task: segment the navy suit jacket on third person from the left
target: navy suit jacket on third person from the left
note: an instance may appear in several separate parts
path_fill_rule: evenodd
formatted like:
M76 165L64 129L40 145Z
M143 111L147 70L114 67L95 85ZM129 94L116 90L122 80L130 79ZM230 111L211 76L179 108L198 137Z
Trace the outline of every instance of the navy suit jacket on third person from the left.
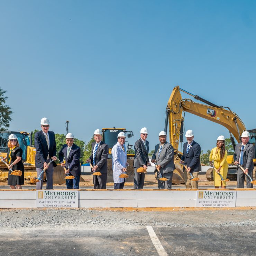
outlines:
M65 157L65 167L66 169L70 170L71 175L73 175L74 177L81 175L80 155L81 149L75 144L72 145L68 157L67 144L62 146L62 149L59 153L60 162L63 162L63 157Z

